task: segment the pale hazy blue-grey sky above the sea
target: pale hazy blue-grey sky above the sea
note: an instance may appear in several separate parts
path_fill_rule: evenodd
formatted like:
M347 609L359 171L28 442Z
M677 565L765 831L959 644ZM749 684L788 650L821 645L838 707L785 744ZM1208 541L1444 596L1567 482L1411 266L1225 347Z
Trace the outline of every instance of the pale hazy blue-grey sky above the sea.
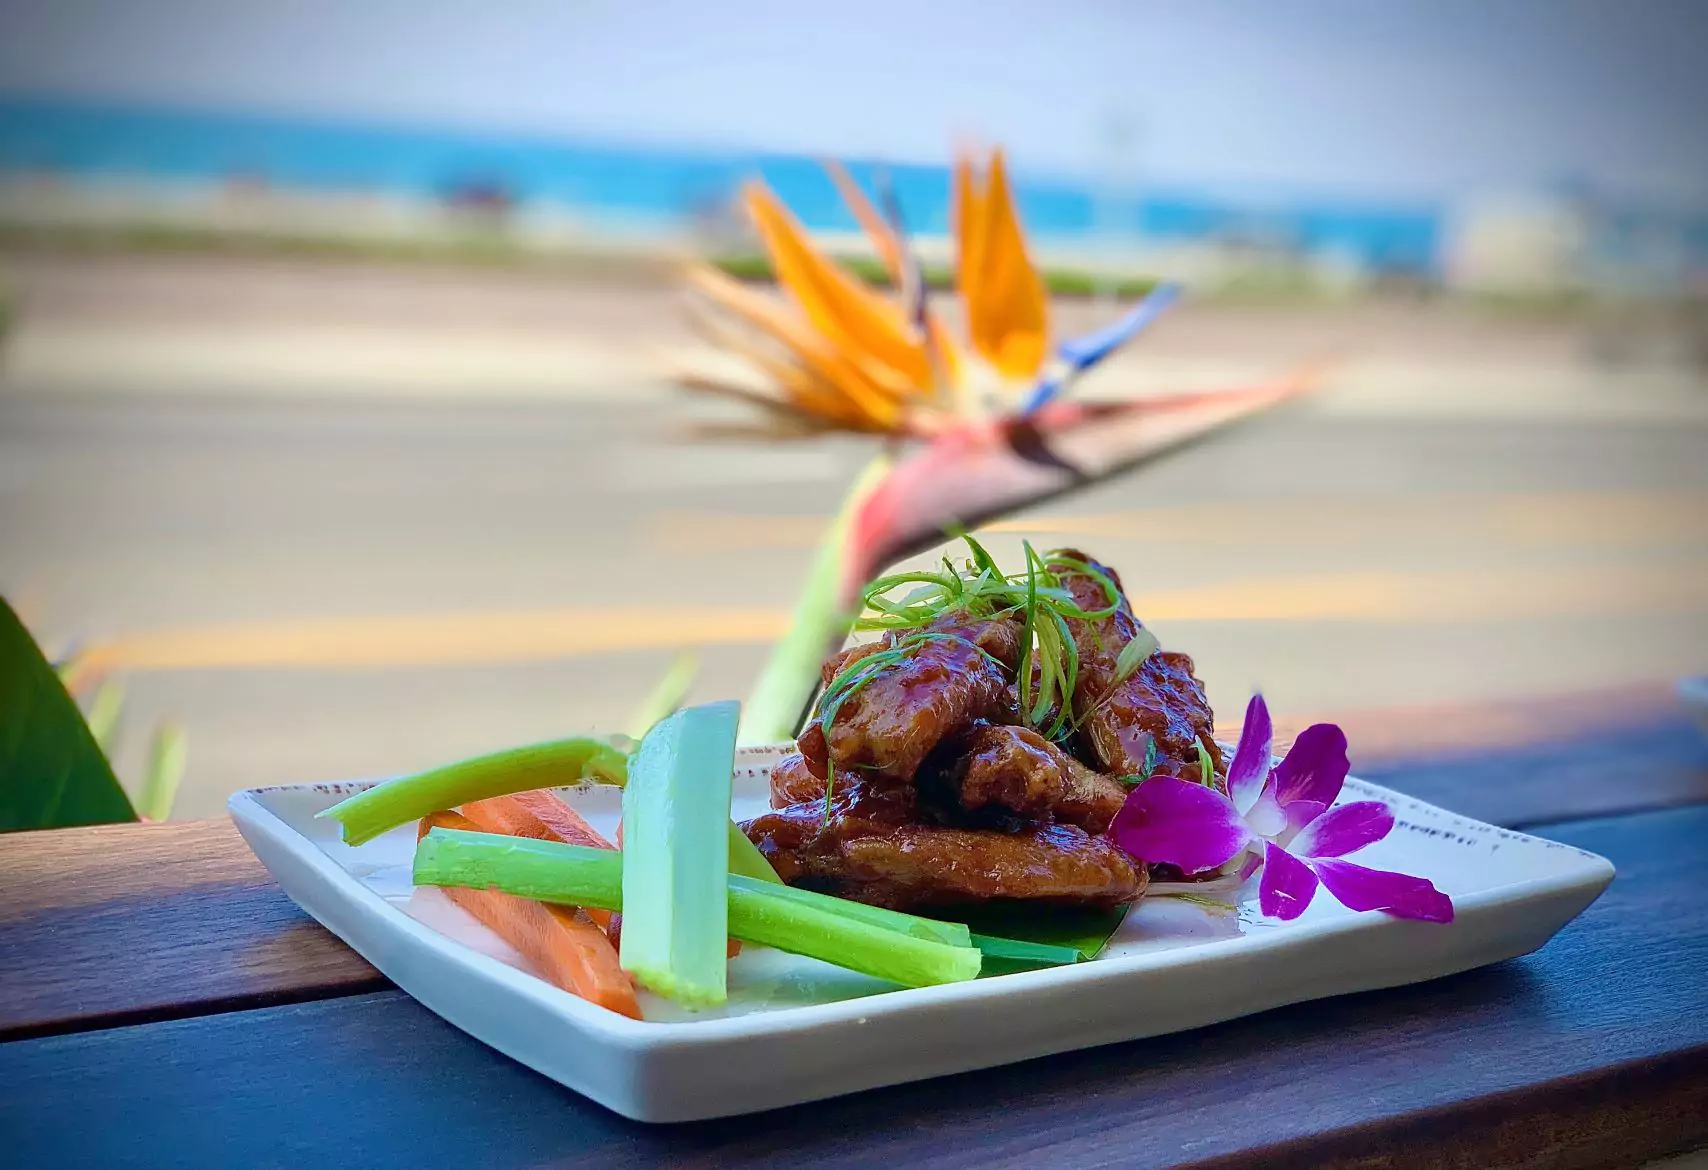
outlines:
M3 0L0 89L1240 195L1708 207L1708 0Z

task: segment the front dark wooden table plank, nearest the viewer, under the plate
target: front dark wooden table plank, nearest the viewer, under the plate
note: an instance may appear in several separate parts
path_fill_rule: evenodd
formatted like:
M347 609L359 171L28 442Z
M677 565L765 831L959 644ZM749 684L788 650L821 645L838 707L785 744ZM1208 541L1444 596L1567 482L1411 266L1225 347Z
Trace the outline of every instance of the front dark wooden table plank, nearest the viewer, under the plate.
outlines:
M1621 876L1527 958L758 1117L627 1122L386 991L0 1045L0 1131L20 1165L1373 1170L1699 1146L1708 808L1554 835Z

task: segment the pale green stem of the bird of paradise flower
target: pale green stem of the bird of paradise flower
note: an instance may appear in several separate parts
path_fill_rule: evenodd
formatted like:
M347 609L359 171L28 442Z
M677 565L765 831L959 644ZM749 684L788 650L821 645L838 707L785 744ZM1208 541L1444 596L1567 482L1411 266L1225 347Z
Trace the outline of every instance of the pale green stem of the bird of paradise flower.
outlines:
M893 463L895 459L888 453L874 456L854 480L849 494L842 497L842 507L830 521L830 531L825 533L825 540L818 547L813 570L794 603L789 632L772 647L758 682L753 683L753 693L748 695L746 717L741 721L743 745L782 743L794 738L794 722L806 709L808 699L813 697L825 654L835 647L839 639L847 637L854 620L842 598L844 557L854 529L854 516L873 488L890 473Z

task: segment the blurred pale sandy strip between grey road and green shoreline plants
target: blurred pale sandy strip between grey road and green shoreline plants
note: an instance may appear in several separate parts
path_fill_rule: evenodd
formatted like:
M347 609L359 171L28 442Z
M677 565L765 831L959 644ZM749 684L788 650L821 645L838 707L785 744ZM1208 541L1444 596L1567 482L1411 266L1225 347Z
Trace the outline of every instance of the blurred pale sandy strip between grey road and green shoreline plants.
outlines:
M0 393L632 400L728 360L670 273L196 251L0 251ZM953 319L953 295L939 306ZM1064 335L1117 299L1056 297ZM1086 396L1211 389L1332 362L1351 413L1703 417L1701 321L1660 309L1494 311L1464 299L1189 299Z

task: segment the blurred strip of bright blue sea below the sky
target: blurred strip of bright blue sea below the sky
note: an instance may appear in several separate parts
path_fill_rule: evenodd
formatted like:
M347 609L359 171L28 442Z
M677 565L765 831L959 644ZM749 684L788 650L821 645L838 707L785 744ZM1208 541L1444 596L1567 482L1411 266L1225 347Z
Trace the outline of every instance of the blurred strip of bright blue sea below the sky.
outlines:
M851 162L871 184L874 164ZM910 231L948 231L950 173L888 166ZM500 188L519 202L577 208L589 219L673 224L758 176L815 231L854 231L815 159L600 145L468 132L331 125L256 114L84 104L0 96L0 174L145 176L219 181L251 176L282 188L436 196ZM1435 208L1295 205L1249 208L1185 195L1148 195L1112 214L1083 184L1016 176L1028 232L1071 243L1102 231L1151 239L1245 237L1337 251L1392 272L1431 272L1442 244Z

